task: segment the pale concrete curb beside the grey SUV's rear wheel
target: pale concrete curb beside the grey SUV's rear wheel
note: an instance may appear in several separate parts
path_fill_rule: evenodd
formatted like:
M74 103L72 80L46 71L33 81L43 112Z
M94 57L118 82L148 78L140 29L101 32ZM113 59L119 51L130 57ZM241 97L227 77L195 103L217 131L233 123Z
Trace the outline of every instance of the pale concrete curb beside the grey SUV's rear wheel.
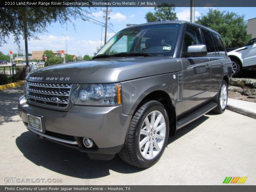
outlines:
M228 98L227 109L256 119L256 103Z

